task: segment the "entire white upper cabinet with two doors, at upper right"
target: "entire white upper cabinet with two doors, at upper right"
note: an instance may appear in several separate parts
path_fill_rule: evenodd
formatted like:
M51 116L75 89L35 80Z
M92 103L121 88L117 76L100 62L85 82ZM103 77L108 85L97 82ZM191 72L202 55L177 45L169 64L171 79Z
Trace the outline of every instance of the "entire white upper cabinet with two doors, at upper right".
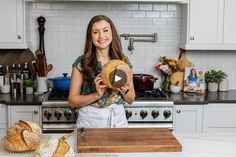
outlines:
M183 5L180 47L236 50L234 8L234 0L190 0Z

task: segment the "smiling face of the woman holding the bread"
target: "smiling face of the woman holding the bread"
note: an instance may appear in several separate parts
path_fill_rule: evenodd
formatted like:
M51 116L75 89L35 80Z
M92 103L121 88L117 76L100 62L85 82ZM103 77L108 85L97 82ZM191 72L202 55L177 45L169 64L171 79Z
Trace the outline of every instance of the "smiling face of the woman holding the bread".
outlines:
M112 30L110 24L101 20L92 26L92 42L98 49L106 49L112 41Z

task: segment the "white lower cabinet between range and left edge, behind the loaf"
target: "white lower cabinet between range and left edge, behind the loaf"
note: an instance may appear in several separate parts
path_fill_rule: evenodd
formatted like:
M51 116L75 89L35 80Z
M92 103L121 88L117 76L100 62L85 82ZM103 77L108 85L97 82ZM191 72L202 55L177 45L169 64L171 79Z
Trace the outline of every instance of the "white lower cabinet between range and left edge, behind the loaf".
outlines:
M32 121L41 126L41 107L40 106L8 106L8 127L11 127L19 120Z

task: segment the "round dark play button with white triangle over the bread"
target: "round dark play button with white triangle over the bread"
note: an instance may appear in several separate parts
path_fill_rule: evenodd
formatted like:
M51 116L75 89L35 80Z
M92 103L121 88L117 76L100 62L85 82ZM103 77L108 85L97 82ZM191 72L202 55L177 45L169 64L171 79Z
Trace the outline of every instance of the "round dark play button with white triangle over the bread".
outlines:
M115 69L110 73L110 84L115 88L124 86L127 82L127 75L123 70Z

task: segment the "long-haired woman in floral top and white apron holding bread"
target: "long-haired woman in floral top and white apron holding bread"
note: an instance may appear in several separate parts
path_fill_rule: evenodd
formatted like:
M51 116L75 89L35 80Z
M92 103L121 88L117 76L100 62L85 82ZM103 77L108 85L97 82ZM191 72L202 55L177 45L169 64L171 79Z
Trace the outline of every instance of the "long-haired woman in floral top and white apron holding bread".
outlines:
M116 92L104 86L100 71L112 59L123 60L120 39L113 22L104 15L93 17L87 27L84 54L73 63L69 104L78 107L77 128L127 127L124 104L135 98L133 79ZM130 73L132 77L132 72Z

